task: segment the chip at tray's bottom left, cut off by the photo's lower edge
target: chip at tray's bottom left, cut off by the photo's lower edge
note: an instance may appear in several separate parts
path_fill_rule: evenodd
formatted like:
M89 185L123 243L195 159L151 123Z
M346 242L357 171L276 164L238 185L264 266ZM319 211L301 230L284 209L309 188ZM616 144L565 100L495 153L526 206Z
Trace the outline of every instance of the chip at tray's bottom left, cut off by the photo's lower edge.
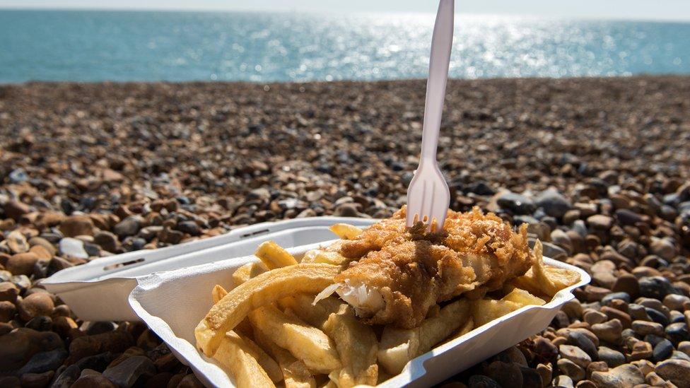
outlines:
M253 353L244 339L230 331L222 337L214 358L230 371L239 388L275 387Z

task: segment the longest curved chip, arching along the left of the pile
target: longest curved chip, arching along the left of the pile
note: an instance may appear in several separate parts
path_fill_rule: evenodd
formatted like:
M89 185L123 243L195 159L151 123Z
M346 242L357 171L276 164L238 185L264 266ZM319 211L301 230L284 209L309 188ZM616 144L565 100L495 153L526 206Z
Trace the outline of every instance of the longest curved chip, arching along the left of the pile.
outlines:
M296 293L319 293L333 283L339 266L297 264L274 269L230 290L194 329L197 347L213 355L223 336L242 322L250 311Z

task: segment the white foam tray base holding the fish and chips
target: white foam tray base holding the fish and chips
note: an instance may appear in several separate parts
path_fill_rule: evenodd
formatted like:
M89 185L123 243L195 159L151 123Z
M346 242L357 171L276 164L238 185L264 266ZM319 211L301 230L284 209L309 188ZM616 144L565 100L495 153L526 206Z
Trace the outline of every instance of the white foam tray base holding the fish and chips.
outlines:
M308 249L322 244L288 249L301 258ZM220 284L233 288L231 274L242 264L257 261L254 256L241 257L153 274L139 279L129 295L134 312L168 344L179 360L189 365L207 387L234 387L226 372L212 358L194 346L194 328L212 305L211 290ZM571 269L580 274L580 282L561 290L543 306L525 306L453 341L420 355L401 374L380 384L392 388L404 385L428 387L515 345L549 325L561 305L575 298L573 289L590 282L590 276L575 266L545 258L546 264Z

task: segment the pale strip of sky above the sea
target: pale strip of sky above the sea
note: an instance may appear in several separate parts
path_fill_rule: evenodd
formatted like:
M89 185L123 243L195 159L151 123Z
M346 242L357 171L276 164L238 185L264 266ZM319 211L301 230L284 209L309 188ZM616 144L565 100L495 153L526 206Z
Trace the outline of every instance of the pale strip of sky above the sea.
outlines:
M0 8L435 12L435 0L0 0ZM690 21L690 0L457 0L457 13Z

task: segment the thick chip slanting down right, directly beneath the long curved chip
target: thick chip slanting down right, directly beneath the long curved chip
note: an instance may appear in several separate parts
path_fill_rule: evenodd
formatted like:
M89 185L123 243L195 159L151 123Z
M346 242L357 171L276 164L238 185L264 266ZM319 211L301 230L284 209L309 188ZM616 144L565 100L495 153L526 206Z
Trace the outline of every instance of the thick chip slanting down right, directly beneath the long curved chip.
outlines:
M314 372L329 373L342 368L338 352L328 336L315 327L290 317L274 306L264 306L249 315L257 331L270 336Z

